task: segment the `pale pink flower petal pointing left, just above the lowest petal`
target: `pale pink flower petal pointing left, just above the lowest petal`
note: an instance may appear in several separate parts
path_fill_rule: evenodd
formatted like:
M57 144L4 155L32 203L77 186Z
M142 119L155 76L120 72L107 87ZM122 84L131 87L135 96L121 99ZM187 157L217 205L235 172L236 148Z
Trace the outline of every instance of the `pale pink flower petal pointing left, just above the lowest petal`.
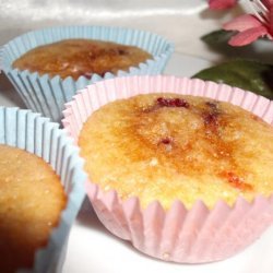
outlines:
M262 23L256 16L250 14L245 14L232 20L228 23L225 23L223 28L225 31L245 32L249 28L258 27L261 25Z

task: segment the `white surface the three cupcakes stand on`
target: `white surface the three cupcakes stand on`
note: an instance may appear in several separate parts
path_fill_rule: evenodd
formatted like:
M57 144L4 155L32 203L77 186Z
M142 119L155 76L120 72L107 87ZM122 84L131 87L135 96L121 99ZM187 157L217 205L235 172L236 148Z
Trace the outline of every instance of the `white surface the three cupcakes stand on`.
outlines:
M199 58L175 54L166 73L191 76L210 64ZM2 75L0 84L0 105L22 105ZM130 242L109 234L86 200L71 230L63 273L272 273L272 257L273 227L251 247L226 261L201 265L157 261L133 249Z

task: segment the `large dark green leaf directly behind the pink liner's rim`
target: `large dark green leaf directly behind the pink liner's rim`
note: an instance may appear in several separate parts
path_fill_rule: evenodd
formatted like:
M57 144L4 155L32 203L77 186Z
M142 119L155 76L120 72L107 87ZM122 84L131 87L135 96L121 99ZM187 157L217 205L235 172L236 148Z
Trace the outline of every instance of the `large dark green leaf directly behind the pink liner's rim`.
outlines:
M226 83L273 99L273 66L251 60L233 60L200 71L192 78Z

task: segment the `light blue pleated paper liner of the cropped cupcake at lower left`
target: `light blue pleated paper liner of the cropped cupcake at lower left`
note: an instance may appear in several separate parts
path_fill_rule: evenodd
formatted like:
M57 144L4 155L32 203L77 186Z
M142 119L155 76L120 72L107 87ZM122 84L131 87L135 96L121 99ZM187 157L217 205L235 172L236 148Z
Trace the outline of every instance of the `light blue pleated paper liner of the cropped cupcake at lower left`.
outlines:
M20 273L61 272L70 228L85 195L86 174L83 171L83 161L79 157L79 149L72 143L72 139L59 129L58 123L49 122L40 114L0 107L0 144L23 149L43 157L60 176L68 195L67 207L47 247L36 251L32 270L19 270Z

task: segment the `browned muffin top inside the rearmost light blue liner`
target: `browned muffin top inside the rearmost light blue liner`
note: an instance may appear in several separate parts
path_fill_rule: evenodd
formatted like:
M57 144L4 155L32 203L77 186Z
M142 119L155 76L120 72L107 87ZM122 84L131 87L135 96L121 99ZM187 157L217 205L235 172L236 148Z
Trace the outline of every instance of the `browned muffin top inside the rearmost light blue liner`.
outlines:
M91 79L94 73L104 76L106 72L127 71L147 59L153 59L152 55L134 46L92 39L64 39L27 51L12 67L40 75L72 76L78 80L81 75Z

